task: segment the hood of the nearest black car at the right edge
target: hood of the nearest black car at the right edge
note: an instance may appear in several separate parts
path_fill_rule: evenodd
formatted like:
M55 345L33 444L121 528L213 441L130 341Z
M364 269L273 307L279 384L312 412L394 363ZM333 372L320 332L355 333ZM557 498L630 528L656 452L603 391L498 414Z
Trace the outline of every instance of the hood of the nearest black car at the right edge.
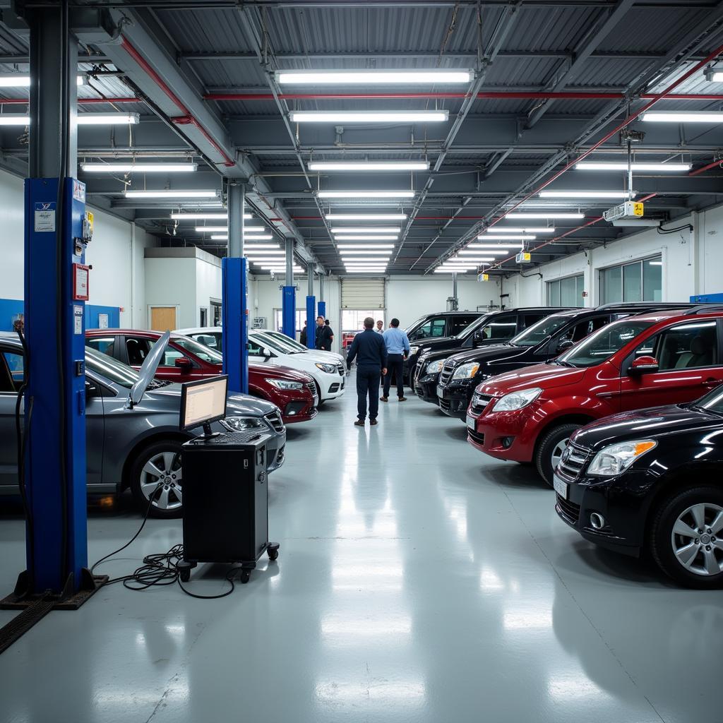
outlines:
M612 414L579 429L573 439L583 447L595 449L615 442L656 439L676 432L698 432L710 427L723 430L721 416L685 404L675 404Z

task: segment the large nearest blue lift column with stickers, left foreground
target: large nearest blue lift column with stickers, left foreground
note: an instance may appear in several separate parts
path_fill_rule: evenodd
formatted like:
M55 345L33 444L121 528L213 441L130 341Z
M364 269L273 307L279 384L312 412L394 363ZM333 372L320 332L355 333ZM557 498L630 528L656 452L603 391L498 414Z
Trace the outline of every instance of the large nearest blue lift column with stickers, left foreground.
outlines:
M29 12L30 178L25 180L27 570L17 594L92 589L87 571L85 184L77 168L77 40L68 10ZM80 278L81 290L74 284Z

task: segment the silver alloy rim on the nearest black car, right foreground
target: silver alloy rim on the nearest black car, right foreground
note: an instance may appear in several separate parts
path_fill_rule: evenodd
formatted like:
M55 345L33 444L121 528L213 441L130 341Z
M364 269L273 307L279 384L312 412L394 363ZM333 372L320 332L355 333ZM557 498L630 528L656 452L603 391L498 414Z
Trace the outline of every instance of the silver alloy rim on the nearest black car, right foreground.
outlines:
M699 502L683 510L670 535L675 559L701 576L723 572L723 508Z

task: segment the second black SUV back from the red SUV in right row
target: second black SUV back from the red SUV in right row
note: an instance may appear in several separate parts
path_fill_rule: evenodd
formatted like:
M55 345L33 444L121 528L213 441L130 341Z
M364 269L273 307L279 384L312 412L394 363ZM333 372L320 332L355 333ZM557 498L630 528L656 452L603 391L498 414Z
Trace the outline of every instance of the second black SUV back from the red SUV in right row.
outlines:
M450 354L462 349L505 343L523 329L536 324L539 320L568 307L522 307L520 309L502 309L486 312L474 324L470 324L461 334L453 337L435 339L419 345L412 345L409 354L410 369L414 369L410 385L424 401L437 403L437 377L441 364L433 364L434 373L427 371L430 363L446 359ZM416 350L416 354L414 353ZM414 364L414 365L413 365ZM432 377L434 377L432 379Z

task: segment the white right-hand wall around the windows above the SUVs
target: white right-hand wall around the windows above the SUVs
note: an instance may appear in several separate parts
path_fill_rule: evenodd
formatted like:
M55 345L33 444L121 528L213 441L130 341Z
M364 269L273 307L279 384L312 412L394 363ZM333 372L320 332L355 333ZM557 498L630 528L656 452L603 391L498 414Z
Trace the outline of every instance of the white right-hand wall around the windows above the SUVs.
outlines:
M655 228L587 252L572 254L502 282L508 306L547 303L547 282L583 273L585 306L601 302L599 272L603 268L661 254L662 300L689 301L698 294L723 293L723 206L693 213L665 226L693 225L693 231L659 234ZM542 278L541 278L542 277Z

